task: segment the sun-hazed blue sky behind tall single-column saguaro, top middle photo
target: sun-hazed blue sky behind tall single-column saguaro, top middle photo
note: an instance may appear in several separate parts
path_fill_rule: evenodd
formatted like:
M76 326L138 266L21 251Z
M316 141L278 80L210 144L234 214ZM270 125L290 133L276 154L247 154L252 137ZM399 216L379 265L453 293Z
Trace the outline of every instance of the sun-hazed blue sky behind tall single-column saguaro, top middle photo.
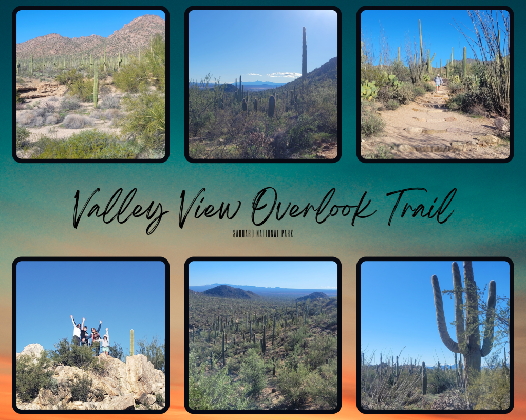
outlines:
M221 82L289 82L301 76L302 28L307 71L338 55L332 10L193 10L188 15L188 76ZM211 81L214 81L214 78Z

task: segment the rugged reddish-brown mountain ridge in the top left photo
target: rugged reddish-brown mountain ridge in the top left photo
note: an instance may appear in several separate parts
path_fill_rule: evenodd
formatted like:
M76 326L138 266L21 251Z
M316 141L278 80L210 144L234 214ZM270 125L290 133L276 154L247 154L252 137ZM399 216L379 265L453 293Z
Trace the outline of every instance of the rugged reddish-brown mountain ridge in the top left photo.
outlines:
M105 38L99 35L68 38L59 34L48 34L29 39L21 44L16 44L17 58L56 57L56 56L86 56L93 54L99 57L104 52L116 56L120 54L136 54L149 48L150 35L163 34L165 39L164 19L157 15L144 15L133 19L130 23L114 31Z

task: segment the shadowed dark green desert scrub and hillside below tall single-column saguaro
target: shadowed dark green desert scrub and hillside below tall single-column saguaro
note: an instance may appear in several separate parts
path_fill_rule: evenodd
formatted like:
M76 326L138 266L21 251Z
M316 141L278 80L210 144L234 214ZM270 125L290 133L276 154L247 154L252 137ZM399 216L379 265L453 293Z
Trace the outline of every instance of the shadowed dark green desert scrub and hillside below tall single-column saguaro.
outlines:
M188 154L193 159L313 158L338 137L338 57L284 86L227 90L211 75L189 81Z

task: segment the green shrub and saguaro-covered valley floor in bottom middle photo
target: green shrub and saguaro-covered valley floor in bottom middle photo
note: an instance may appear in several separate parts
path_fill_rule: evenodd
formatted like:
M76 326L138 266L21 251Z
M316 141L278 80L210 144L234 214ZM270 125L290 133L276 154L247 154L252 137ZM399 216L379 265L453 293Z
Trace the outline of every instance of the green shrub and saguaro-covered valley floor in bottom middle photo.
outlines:
M191 409L337 407L337 299L188 300Z

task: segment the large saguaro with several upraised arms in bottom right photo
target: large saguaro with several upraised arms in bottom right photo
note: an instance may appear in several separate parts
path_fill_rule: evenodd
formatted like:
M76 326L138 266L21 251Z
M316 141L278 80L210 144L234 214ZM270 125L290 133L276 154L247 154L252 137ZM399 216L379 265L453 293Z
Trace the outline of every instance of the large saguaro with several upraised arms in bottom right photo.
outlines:
M437 325L440 339L446 347L453 353L464 355L464 379L468 384L468 375L480 373L480 361L491 352L493 346L493 327L495 299L497 297L497 286L495 280L491 280L488 289L488 311L484 325L484 339L482 348L480 347L479 331L479 303L477 295L477 283L473 279L473 267L471 261L464 261L464 285L462 288L462 277L460 276L459 266L453 262L451 266L453 272L453 291L455 295L455 326L457 342L449 337L446 319L444 318L444 308L442 295L437 276L431 277L433 285L434 306L437 311ZM466 305L464 306L462 292L466 293ZM464 329L464 311L466 308L466 326Z

